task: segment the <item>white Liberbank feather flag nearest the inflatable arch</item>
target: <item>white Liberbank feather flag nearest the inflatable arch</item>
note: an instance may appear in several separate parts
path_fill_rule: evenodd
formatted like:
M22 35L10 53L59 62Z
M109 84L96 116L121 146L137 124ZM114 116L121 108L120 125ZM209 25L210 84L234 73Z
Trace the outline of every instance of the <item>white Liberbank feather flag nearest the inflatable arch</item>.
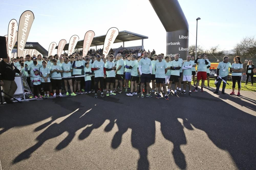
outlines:
M110 46L114 43L115 38L118 36L119 30L115 27L110 28L106 34L106 38L103 45L103 54L106 56L109 53Z

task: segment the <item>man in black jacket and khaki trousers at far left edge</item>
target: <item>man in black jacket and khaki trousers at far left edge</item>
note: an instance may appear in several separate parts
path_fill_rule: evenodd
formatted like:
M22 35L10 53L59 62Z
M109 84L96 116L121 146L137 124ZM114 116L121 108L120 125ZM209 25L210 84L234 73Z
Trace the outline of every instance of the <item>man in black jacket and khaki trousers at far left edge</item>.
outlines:
M22 73L14 66L12 62L10 62L10 58L4 58L0 62L0 84L3 86L4 100L6 103L13 103L10 98L13 96L17 89L17 84L15 83L15 73ZM8 96L9 95L9 96ZM10 97L11 96L11 97Z

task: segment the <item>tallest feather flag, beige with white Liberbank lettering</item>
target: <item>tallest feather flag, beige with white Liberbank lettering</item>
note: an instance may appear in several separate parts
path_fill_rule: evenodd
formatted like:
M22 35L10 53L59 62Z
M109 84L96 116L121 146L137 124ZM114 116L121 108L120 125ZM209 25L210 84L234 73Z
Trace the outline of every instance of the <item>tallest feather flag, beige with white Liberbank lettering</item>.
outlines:
M18 56L21 56L23 53L23 49L27 42L28 34L34 19L35 17L33 12L29 10L23 12L20 16L18 27Z

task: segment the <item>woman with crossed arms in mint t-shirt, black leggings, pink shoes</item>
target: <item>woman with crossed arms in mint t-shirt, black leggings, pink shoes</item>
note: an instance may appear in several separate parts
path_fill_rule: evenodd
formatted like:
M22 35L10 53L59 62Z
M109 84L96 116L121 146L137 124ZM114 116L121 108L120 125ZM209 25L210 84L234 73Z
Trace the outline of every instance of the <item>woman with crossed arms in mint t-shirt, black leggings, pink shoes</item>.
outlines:
M238 85L237 96L240 96L243 64L241 63L239 56L236 56L234 58L234 63L231 66L231 71L232 71L231 78L232 78L233 85L232 85L232 92L230 93L230 95L235 94L235 88L236 88L236 82L237 82L237 85Z

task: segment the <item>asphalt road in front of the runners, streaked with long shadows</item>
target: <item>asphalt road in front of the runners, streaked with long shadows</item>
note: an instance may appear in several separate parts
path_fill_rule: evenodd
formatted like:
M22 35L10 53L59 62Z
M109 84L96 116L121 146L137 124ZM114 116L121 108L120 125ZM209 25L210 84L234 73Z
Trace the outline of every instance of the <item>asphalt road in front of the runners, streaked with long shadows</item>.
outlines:
M256 93L212 91L0 106L2 168L256 169Z

